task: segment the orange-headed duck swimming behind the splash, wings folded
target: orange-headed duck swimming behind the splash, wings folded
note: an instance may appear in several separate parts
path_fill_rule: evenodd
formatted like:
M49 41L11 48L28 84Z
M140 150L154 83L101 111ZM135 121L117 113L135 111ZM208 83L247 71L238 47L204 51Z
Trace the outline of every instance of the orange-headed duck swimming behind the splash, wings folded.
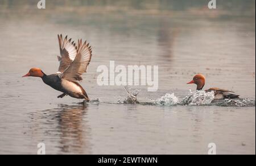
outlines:
M203 74L196 74L193 80L187 84L196 84L196 90L202 90L205 84L205 77ZM239 95L233 94L234 92L230 90L220 89L220 88L210 88L205 90L205 92L214 92L214 99L225 99L225 98L238 98Z

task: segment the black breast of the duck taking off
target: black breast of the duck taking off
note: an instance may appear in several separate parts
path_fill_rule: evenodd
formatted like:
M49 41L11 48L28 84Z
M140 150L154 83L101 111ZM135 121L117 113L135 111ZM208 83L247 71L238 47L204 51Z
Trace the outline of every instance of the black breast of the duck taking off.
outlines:
M53 89L59 90L60 92L64 92L63 87L61 86L61 80L57 74L44 75L42 80L45 84L51 86Z

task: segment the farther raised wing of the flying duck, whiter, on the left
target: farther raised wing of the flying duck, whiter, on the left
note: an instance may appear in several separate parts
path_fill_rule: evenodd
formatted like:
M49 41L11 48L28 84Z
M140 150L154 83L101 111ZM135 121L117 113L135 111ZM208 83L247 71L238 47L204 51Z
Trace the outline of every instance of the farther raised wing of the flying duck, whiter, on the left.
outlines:
M69 67L73 60L75 60L77 55L77 48L74 42L71 42L71 39L68 40L66 36L63 40L62 35L58 35L59 45L60 45L60 56L58 60L60 62L59 72L63 73L65 69Z

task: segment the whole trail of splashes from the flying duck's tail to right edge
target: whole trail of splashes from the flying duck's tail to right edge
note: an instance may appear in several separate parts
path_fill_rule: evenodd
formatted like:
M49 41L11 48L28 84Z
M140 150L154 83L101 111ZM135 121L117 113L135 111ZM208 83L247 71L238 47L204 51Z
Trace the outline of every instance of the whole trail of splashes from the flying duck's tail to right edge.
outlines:
M239 99L221 99L214 100L214 92L205 92L204 90L196 90L195 92L189 93L186 97L179 101L179 98L175 96L174 93L166 93L164 96L158 99L148 99L150 102L138 101L137 96L139 95L140 90L131 89L125 87L127 92L127 97L123 99L119 96L118 101L114 103L130 103L130 104L140 104L140 105L162 105L162 106L174 106L174 105L207 105L207 106L230 106L230 107L250 107L255 106L255 100L248 98L239 98ZM91 102L101 102L100 99L93 100Z

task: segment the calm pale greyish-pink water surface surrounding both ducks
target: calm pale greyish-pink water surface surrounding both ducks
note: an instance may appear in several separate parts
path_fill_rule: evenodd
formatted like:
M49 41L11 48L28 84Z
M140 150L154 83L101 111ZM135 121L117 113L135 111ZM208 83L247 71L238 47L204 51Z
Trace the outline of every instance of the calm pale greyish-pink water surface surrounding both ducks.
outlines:
M255 5L254 5L255 6ZM23 6L22 6L23 7ZM24 9L23 9L24 8ZM184 11L0 8L0 153L36 154L255 154L254 14ZM82 10L83 9L83 10ZM225 10L224 10L225 11ZM225 14L225 12L224 12ZM31 67L58 68L57 34L86 39L93 58L81 85L94 101L82 104L45 85L22 78ZM98 65L159 65L159 90L139 89L138 101L205 88L230 89L254 103L236 105L123 104L122 86L98 86ZM100 99L98 101L97 99Z

